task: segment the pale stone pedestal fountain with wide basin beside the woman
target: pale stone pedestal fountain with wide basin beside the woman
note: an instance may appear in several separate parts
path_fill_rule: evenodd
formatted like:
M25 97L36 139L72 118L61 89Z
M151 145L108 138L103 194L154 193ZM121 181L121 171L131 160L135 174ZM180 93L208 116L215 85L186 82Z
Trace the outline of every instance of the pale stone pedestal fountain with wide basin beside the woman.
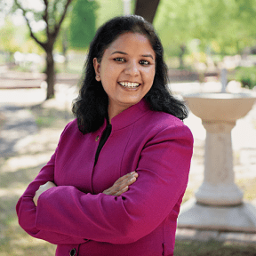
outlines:
M181 206L179 228L256 232L256 207L235 184L231 130L252 109L252 93L194 93L183 96L206 130L204 181ZM255 170L256 172L256 170Z

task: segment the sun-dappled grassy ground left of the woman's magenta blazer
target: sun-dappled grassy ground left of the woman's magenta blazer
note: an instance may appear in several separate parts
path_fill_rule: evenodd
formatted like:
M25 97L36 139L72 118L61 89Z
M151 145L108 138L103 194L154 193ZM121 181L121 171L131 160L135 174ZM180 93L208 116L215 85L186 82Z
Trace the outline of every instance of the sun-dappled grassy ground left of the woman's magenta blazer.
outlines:
M60 133L72 118L70 109L67 112L66 108L55 108L58 102L27 107L19 107L18 103L17 107L5 108L8 120L0 132L1 156L4 156L0 157L1 256L55 253L56 245L28 236L20 228L15 206L28 184L51 158ZM65 104L65 100L62 102Z

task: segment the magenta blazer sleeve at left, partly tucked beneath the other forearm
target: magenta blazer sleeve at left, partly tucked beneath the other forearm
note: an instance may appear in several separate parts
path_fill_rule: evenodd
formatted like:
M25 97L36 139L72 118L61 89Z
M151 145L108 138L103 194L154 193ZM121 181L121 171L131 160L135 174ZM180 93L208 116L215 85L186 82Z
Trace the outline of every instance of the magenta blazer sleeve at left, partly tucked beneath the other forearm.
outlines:
M52 155L50 161L42 168L42 170L36 176L36 179L28 185L28 188L24 194L20 197L20 200L16 205L19 224L20 227L23 228L30 236L44 239L52 244L81 244L84 243L84 239L80 237L68 236L66 234L61 234L60 232L40 230L36 228L37 207L33 202L33 197L36 194L36 190L41 185L47 181L54 182L54 163L57 150L58 147L56 148L56 151Z

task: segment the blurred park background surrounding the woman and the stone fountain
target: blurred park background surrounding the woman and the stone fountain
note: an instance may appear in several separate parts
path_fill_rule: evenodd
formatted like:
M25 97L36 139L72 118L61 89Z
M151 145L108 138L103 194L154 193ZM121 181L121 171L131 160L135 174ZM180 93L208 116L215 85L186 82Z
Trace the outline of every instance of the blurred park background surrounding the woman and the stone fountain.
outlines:
M131 13L156 28L169 86L178 97L220 92L221 74L227 92L255 91L255 0L1 0L1 256L54 255L55 245L29 237L19 227L15 204L73 118L72 100L95 31L107 20ZM236 184L250 202L256 199L255 113L254 106L232 134ZM204 179L205 131L193 114L185 124L195 137L187 201ZM256 236L248 236L246 243L241 237L239 243L177 241L175 255L256 255Z

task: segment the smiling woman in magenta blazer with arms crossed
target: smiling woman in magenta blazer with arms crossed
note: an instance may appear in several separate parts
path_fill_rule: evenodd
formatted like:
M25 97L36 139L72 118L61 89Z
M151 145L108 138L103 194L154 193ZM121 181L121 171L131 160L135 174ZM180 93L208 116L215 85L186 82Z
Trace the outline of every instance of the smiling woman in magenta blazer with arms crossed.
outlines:
M61 256L173 255L193 138L166 87L162 44L146 20L118 17L85 67L76 120L21 196L20 226Z

